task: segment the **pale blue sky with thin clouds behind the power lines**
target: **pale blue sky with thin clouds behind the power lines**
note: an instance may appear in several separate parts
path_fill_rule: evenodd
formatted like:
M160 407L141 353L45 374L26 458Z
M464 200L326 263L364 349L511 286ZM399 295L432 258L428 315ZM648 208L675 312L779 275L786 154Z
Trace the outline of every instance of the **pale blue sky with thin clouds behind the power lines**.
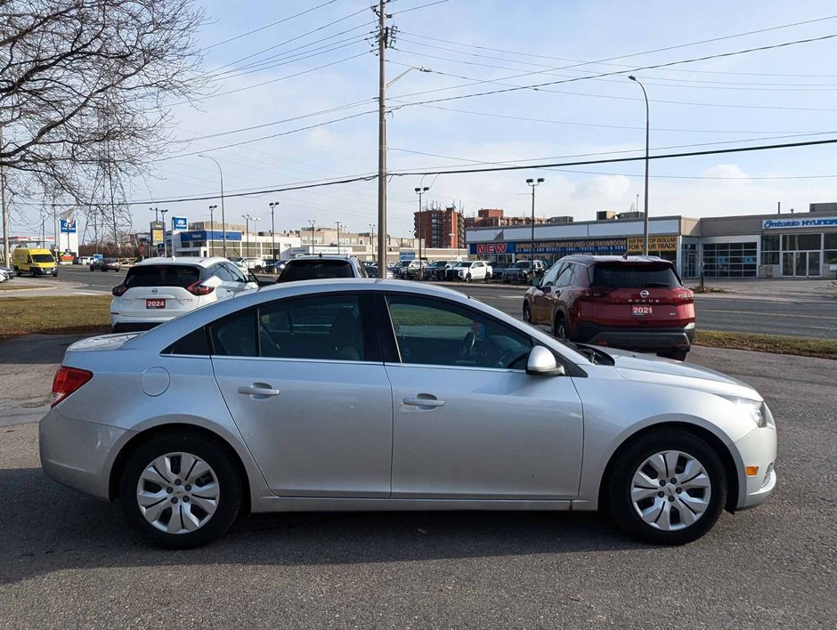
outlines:
M158 163L154 176L132 182L134 200L216 193L218 171L211 161L197 155L176 157L208 149L216 149L208 155L223 166L228 193L376 172L377 117L362 114L377 107L372 99L377 96L378 59L370 52L370 43L363 41L364 36L370 38L373 28L369 0L336 0L257 33L213 45L324 2L213 0L205 4L209 22L199 33L199 44L212 46L205 52L204 69L214 77L213 95L193 105L175 107L175 136L183 142L172 147L171 158ZM613 157L614 151L622 151L615 155L640 156L645 142L645 106L639 86L626 77L630 70L837 33L837 19L830 19L734 36L830 17L837 14L837 7L830 2L448 0L409 11L432 2L396 0L391 4L391 23L400 32L395 49L387 51L387 77L396 77L412 66L434 71L410 72L388 90L388 104L397 108L387 117L389 170L393 172L479 163L491 166L512 160L560 161L587 154L607 158ZM353 13L357 14L347 17ZM317 28L321 30L299 37ZM682 46L724 36L734 37ZM271 46L275 48L261 52ZM673 46L680 47L670 48ZM660 48L670 49L645 53ZM800 141L809 138L759 139L837 131L835 52L837 39L830 39L669 69L636 70L651 99L652 149L689 150L683 145L696 144L706 146L695 149L710 149L716 146L710 143L717 142L727 142L719 146L742 146L730 141ZM274 55L278 56L270 62L243 68L248 74L230 71ZM584 63L611 58L616 59ZM279 63L282 65L277 66ZM332 65L320 68L327 64ZM537 91L398 107L614 71L625 74ZM483 83L456 87L475 81ZM265 82L270 83L254 86ZM225 94L232 91L236 92ZM358 101L352 108L305 117ZM353 114L358 116L294 131ZM191 140L294 117L302 118ZM293 133L253 141L286 132ZM811 136L828 137L837 137L837 133ZM221 148L236 142L246 143ZM667 147L682 148L662 149ZM538 214L571 214L576 221L590 220L598 210L627 210L641 193L641 162L572 170L581 172L532 169L443 175L435 181L426 177L423 185L433 182L426 200L456 201L467 214L480 207L524 214L530 203L524 180L544 177L546 182L538 189ZM653 162L651 172L652 215L763 214L774 211L777 201L783 209L805 211L810 202L837 200L837 177L759 179L837 175L837 148L833 146L672 159ZM411 213L417 206L413 189L419 182L418 176L393 178L390 233L408 234ZM264 219L260 228L267 229L268 203L279 201L277 230L296 229L307 225L309 219L322 225L341 221L352 230L368 230L370 223L377 222L376 187L371 181L230 198L227 221L240 221L245 213L256 214ZM208 218L210 203L166 206L172 214L196 221ZM150 205L160 206L134 206L136 227L148 221Z

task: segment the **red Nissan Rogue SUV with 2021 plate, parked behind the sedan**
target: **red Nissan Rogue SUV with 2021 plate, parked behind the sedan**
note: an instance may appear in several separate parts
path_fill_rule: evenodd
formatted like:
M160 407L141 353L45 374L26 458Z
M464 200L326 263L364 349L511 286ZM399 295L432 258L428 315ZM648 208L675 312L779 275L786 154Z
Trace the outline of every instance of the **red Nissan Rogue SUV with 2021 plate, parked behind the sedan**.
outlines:
M559 339L670 359L686 359L695 338L694 295L650 256L565 256L526 292L523 315Z

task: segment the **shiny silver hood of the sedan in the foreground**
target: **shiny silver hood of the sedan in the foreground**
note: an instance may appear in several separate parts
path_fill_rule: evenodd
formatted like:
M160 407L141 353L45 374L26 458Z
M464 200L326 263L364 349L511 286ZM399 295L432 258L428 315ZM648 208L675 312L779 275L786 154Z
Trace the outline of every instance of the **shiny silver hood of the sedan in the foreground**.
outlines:
M763 400L751 385L708 367L611 348L599 350L606 351L614 358L616 371L629 381Z

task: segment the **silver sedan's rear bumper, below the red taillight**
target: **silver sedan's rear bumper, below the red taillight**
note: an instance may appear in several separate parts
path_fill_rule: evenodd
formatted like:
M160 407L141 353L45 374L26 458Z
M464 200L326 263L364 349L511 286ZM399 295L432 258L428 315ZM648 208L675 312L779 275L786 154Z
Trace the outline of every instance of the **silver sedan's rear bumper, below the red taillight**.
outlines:
M38 427L41 467L65 486L102 499L110 498L110 468L134 432L105 424L70 420L55 409Z

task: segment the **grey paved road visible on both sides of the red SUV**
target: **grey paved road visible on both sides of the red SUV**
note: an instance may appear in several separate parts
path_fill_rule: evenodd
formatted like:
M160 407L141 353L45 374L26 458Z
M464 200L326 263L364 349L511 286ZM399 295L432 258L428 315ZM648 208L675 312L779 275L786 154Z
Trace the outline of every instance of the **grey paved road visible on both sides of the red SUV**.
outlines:
M521 317L523 289L464 284L454 288L500 311ZM837 339L837 300L772 302L738 296L697 295L695 316L697 326L704 330Z

